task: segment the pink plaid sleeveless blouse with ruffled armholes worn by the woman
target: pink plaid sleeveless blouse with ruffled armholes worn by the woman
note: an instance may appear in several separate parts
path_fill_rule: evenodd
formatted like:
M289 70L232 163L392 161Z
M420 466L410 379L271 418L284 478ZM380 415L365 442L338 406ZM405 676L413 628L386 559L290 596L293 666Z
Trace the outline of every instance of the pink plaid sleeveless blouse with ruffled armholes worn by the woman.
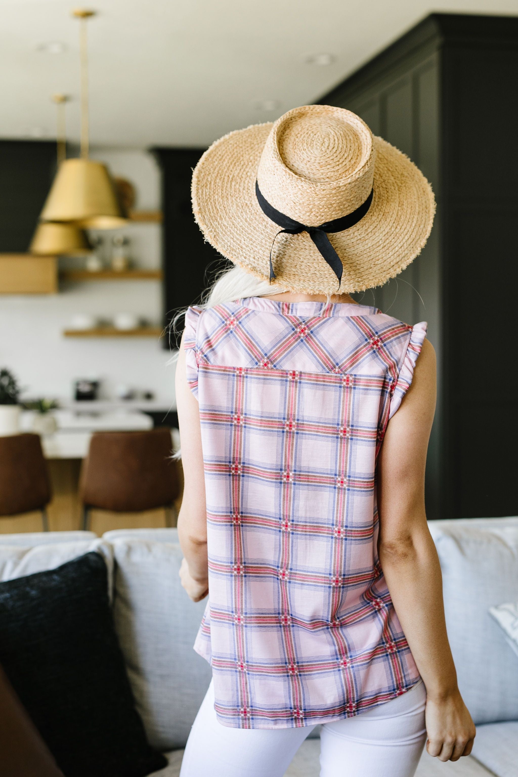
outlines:
M327 723L419 680L377 558L376 458L426 323L249 298L186 314L218 720Z

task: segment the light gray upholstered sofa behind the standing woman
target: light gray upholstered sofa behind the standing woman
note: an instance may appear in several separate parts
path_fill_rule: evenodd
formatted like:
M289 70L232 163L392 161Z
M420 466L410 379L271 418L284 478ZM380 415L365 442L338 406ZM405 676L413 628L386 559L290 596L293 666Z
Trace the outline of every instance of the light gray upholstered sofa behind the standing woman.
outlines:
M418 777L518 777L518 657L491 605L518 600L518 518L430 523L443 570L448 633L459 685L478 724L473 756L446 764L423 754ZM0 580L59 566L85 552L103 554L120 644L148 739L176 777L182 748L210 681L193 651L204 602L179 584L176 529L0 535ZM318 739L307 740L287 777L317 777ZM201 775L200 775L201 777Z

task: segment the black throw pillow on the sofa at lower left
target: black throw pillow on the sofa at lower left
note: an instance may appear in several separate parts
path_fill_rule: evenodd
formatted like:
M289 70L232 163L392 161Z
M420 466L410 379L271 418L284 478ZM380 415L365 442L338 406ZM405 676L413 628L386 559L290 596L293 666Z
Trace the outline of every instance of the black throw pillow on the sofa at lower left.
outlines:
M99 553L0 583L0 664L66 777L166 765L134 706Z

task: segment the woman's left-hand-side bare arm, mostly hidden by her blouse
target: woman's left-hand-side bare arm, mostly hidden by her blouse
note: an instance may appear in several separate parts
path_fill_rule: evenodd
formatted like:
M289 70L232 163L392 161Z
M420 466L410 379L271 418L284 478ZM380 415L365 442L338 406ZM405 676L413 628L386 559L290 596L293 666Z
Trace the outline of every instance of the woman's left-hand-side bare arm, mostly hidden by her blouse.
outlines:
M187 383L183 337L176 364L175 383L184 478L182 507L178 517L178 536L184 556L180 577L190 598L200 601L208 593L207 507L200 410Z

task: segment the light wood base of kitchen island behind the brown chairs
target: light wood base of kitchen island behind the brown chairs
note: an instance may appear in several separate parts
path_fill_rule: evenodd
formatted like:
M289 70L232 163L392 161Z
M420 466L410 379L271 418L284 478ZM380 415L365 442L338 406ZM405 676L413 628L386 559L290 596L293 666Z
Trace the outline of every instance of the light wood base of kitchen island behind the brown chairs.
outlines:
M49 459L50 480L54 497L47 512L50 531L73 531L82 528L81 504L78 500L79 471L81 459ZM183 483L182 465L176 462L180 482ZM182 497L176 500L179 510ZM91 511L91 531L102 535L110 529L127 528L163 528L165 510L145 510L141 513L112 513L108 510ZM41 514L26 513L8 518L0 517L0 534L20 533L23 531L42 531Z

